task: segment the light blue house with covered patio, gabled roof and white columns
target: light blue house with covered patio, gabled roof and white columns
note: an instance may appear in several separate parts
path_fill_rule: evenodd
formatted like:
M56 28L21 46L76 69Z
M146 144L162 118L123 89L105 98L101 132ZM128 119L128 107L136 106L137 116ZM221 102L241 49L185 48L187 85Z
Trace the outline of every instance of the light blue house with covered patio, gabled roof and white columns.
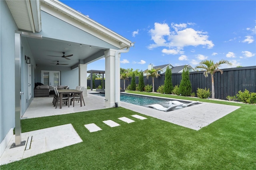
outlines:
M97 108L119 105L120 57L134 45L130 40L58 0L3 0L0 7L1 148L14 127L16 146L21 144L20 118L39 100L34 98L35 83L87 88L87 65L98 59L105 58L107 100Z

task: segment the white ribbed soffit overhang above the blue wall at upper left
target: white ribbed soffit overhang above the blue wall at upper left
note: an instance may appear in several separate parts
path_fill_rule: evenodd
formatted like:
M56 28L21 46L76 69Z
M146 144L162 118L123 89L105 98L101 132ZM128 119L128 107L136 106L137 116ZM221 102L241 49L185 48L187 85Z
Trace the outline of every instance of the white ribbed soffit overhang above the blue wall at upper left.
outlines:
M6 0L8 8L21 30L35 32L30 1L26 0Z

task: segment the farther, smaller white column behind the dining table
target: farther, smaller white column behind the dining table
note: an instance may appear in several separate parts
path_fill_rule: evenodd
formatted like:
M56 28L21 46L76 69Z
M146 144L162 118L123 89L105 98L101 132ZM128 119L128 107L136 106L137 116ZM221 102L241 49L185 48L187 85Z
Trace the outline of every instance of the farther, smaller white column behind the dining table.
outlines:
M79 86L84 86L83 96L87 96L87 64L78 64Z

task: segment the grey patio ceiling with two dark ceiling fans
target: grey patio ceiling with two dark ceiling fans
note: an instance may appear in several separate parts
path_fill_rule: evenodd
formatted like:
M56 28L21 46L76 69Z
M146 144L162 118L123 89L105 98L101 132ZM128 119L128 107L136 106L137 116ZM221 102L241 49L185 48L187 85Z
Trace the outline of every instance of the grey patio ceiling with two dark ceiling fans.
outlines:
M38 66L54 66L54 64L51 63L57 63L57 61L59 61L60 64L68 65L56 65L56 67L71 67L73 69L78 67L80 63L90 63L104 57L105 49L91 45L60 40L48 40L44 38L42 40L27 38L27 41L30 45L36 65ZM67 57L70 60L65 59L61 57L63 55L62 52L65 52L65 55L73 54L73 56ZM52 57L49 55L60 57Z

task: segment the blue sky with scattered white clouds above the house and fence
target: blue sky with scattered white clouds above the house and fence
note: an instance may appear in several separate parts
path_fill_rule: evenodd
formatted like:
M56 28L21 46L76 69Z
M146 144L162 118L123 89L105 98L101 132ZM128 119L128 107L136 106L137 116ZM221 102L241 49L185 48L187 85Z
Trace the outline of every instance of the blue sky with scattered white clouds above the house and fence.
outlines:
M256 65L254 0L61 2L134 42L121 54L125 69L144 71L150 63L195 67L205 59ZM88 64L90 69L104 70L104 59Z

